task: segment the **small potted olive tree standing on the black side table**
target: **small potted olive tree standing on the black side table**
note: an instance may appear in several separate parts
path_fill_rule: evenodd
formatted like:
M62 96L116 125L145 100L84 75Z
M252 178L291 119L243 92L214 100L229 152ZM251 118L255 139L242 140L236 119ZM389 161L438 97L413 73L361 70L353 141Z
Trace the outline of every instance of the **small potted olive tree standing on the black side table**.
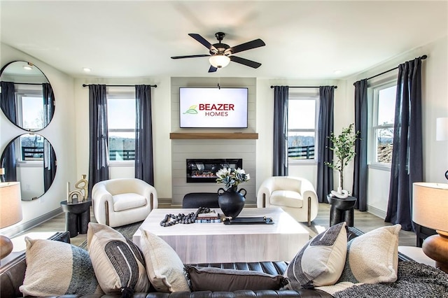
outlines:
M344 167L355 157L355 143L360 134L360 132L354 132L353 125L352 123L349 127L342 129L339 136L335 136L334 132L328 136L332 143L332 147L328 149L333 151L337 159L336 161L332 159L332 162L325 162L325 164L331 169L339 171L339 186L336 192L334 190L331 192L333 196L339 198L345 198L349 195L349 192L344 190Z

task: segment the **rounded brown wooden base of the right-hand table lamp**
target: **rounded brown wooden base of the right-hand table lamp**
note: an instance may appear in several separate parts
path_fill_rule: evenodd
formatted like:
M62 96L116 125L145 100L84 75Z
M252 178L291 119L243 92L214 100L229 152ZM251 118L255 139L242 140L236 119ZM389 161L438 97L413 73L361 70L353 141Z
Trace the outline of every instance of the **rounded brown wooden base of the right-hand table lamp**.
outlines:
M423 241L423 253L435 260L435 267L448 274L448 234L436 231Z

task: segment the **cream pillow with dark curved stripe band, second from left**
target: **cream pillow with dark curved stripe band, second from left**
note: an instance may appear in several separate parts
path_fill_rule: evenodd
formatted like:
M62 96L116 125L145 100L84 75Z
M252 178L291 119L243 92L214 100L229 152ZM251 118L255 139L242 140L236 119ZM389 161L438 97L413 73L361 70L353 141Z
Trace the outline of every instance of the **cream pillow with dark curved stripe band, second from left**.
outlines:
M138 246L109 226L89 222L87 249L99 285L106 294L148 292L151 284Z

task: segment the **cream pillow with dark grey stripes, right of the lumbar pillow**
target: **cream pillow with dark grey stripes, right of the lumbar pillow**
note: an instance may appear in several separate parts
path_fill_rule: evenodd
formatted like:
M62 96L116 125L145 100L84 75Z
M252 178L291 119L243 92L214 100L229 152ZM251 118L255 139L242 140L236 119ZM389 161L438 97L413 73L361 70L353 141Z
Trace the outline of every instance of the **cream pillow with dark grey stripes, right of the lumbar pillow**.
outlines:
M334 285L344 269L346 247L346 222L333 225L309 240L286 268L284 276L289 280L286 288Z

